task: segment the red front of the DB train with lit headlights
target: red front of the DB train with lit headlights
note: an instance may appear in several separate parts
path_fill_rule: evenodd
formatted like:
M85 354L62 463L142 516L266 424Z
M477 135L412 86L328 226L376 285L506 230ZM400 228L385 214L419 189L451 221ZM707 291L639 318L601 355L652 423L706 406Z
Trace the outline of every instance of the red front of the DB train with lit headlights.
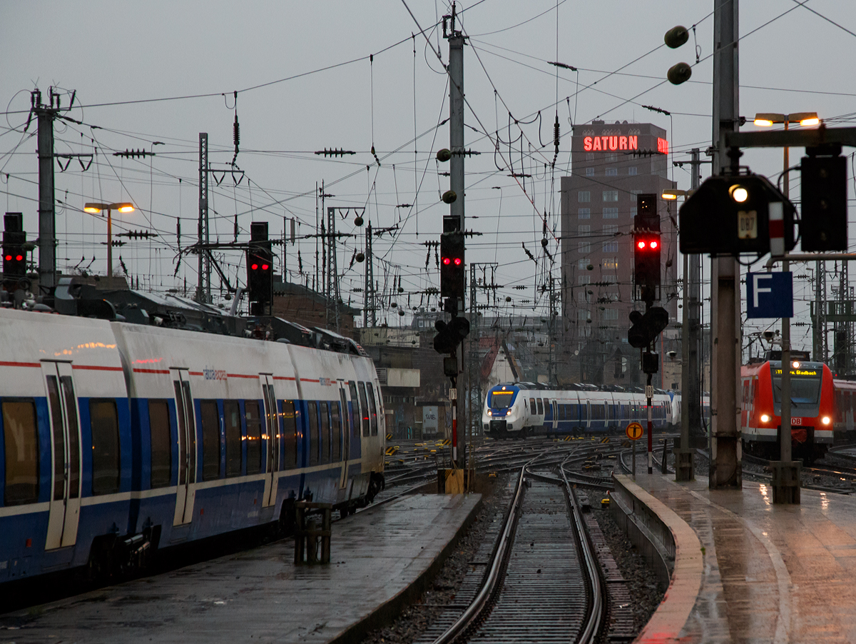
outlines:
M782 361L741 367L743 387L740 425L747 451L765 458L779 456L782 425ZM822 458L833 444L836 420L832 372L823 362L791 361L791 438L794 458ZM849 384L847 384L849 385ZM852 386L852 385L851 385ZM849 414L853 426L853 412Z

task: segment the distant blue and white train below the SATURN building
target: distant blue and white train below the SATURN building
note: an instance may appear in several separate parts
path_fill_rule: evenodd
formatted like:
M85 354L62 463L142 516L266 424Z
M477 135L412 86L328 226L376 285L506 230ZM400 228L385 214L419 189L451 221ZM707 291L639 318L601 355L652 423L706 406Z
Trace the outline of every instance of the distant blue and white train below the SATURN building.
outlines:
M605 391L594 385L575 387L554 390L532 383L496 385L484 399L484 432L497 438L526 438L536 433L581 436L623 432L633 420L648 420L642 392ZM680 394L656 389L651 404L656 429L680 424Z

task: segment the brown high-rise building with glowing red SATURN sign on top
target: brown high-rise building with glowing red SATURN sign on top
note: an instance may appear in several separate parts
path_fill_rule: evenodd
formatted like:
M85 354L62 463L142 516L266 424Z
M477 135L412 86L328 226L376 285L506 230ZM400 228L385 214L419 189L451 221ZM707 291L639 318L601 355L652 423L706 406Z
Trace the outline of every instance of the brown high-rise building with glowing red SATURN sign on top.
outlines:
M633 301L633 217L638 194L669 181L666 131L651 123L594 121L574 128L571 176L562 177L562 350L559 380L639 385L639 349L627 344ZM675 215L657 199L663 234L660 306L677 315ZM669 330L669 337L676 334ZM663 354L677 350L670 339ZM671 377L671 376L670 376ZM668 387L671 383L665 383Z

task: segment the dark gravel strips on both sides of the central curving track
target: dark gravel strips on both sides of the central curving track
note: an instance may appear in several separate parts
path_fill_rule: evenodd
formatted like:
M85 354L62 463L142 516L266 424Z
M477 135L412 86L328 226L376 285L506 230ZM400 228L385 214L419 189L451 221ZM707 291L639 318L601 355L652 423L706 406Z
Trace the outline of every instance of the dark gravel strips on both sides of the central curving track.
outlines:
M455 552L443 564L443 568L434 579L431 588L419 599L407 606L393 623L382 629L376 629L366 635L363 644L410 644L414 641L434 617L439 615L443 605L455 599L457 588L469 569L469 562L478 550L484 534L491 522L502 521L508 507L511 492L507 475L498 476L492 493L485 495L479 515L473 525L461 537ZM648 568L639 552L621 533L621 529L612 521L609 512L592 509L603 535L627 580L630 596L635 598L633 617L637 629L651 618L657 606L663 600L663 588L659 587L657 577Z

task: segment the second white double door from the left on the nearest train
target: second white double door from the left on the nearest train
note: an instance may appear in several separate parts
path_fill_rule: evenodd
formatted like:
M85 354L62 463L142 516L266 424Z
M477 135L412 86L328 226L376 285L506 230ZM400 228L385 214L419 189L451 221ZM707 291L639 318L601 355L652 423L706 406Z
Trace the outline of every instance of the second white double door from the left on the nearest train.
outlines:
M196 412L187 369L174 368L170 372L178 418L178 488L172 524L180 526L193 519L193 501L196 498Z

